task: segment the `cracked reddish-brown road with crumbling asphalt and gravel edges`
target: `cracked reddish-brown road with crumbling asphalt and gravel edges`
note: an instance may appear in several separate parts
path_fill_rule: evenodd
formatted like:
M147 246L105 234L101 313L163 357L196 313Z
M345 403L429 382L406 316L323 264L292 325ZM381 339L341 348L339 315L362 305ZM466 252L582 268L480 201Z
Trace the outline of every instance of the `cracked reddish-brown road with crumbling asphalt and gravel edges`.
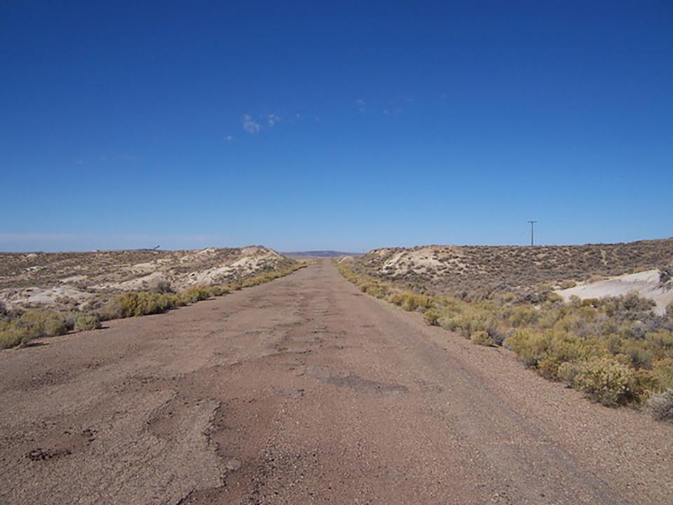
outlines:
M322 262L0 352L1 504L671 504L673 428Z

